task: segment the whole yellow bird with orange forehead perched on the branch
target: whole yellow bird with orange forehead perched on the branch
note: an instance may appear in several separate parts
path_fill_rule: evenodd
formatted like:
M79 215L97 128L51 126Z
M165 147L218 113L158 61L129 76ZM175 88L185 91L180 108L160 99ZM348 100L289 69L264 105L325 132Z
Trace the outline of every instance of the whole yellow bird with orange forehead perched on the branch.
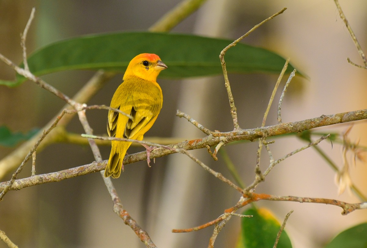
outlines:
M167 66L156 54L139 54L127 66L123 82L113 94L111 107L130 114L132 120L113 110L108 111L107 132L110 137L141 141L162 108L163 95L156 82L158 74ZM124 171L123 160L131 142L112 141L105 177L118 178ZM148 146L147 160L149 165Z

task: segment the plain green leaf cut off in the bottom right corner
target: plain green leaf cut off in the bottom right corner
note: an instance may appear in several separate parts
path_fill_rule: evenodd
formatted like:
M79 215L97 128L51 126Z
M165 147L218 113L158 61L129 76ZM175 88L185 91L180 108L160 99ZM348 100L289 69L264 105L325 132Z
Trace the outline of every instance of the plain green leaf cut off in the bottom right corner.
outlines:
M325 248L366 248L367 223L361 223L339 233Z

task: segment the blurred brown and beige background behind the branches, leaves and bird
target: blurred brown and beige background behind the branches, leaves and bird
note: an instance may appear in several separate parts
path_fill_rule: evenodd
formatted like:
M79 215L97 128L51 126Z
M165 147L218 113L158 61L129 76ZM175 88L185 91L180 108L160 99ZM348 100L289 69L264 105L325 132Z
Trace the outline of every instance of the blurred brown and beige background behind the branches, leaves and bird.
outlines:
M146 30L177 3L179 0L0 0L0 52L16 63L21 62L19 34L32 7L36 7L36 15L27 40L29 53L51 42L83 34ZM340 4L367 52L367 2L341 0ZM362 64L334 1L208 0L172 31L234 40L283 7L288 8L283 14L242 41L275 51L284 58L290 57L291 63L310 77L310 80L300 77L292 80L283 102L283 122L365 109L367 72L346 60L349 57ZM164 62L164 58L161 59ZM93 74L60 72L43 79L73 96ZM0 63L1 79L11 80L14 75ZM229 75L242 128L261 125L277 77ZM109 105L121 78L121 74L114 77L88 105ZM163 109L146 137L182 140L203 137L188 121L175 116L177 109L210 130L233 130L222 76L182 81L160 79L159 83L164 95ZM60 99L31 82L17 88L0 86L0 125L5 124L13 131L43 127L63 105ZM105 135L106 111L90 110L87 116L94 133ZM267 125L276 123L274 106ZM319 130L344 132L348 127L350 124L341 124ZM77 118L67 129L84 133ZM360 139L360 144L366 145L365 130L365 121L355 123L351 141ZM257 144L246 142L225 147L246 185L254 180ZM290 137L276 139L270 147L274 158L280 158L303 145L297 138ZM341 145L331 146L324 141L320 147L342 166ZM107 159L110 147L100 149L103 159ZM143 147L135 146L128 152L142 150ZM0 158L11 151L1 147ZM232 179L220 154L219 160L213 161L205 149L192 153ZM269 160L265 153L263 155L264 170ZM54 144L37 153L37 173L72 168L93 160L87 146ZM363 163L358 163L351 172L353 182L364 195L367 195L366 172ZM21 176L30 176L30 164ZM308 149L277 165L257 192L358 202L359 199L348 192L338 195L334 177L333 170L315 150ZM9 178L7 175L1 180ZM157 158L152 168L148 168L145 161L126 165L125 172L113 183L124 208L149 233L157 247L207 247L213 227L184 234L173 234L171 229L194 227L213 220L240 197L182 154ZM258 205L269 208L280 222L294 209L286 230L294 247L301 248L323 247L339 231L367 220L364 210L342 216L340 208L321 204L259 202ZM239 228L239 217L233 217L219 233L215 247L235 247ZM112 202L99 173L9 192L0 203L0 230L19 247L145 247L112 211ZM0 242L0 247L6 245Z

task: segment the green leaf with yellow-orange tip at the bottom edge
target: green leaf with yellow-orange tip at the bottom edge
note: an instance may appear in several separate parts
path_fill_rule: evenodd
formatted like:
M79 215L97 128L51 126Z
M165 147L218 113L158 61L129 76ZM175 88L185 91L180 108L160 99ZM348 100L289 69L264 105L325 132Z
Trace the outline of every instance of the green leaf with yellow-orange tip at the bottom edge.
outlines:
M277 233L280 229L279 222L273 214L265 208L250 208L242 213L252 215L252 218L242 218L242 246L236 248L273 248ZM291 248L291 241L285 230L280 235L277 248Z

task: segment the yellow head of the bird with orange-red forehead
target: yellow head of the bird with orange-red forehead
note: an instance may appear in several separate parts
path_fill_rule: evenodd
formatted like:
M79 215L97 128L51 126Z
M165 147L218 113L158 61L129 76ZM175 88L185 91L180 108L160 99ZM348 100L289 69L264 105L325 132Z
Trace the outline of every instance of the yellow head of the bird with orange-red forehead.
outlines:
M127 66L124 80L129 76L140 77L148 81L156 81L161 70L167 66L156 54L139 54L133 58Z

